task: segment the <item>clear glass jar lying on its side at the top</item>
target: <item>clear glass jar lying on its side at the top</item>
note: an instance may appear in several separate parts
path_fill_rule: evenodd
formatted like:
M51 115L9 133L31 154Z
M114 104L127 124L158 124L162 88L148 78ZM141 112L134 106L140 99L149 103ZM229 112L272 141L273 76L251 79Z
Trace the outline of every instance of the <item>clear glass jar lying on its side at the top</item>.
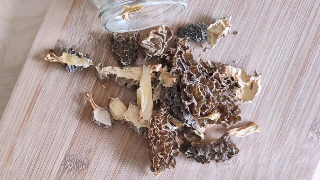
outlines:
M185 0L91 0L99 8L102 28L110 32L131 32L147 29L171 20L184 12ZM140 7L123 18L131 7Z

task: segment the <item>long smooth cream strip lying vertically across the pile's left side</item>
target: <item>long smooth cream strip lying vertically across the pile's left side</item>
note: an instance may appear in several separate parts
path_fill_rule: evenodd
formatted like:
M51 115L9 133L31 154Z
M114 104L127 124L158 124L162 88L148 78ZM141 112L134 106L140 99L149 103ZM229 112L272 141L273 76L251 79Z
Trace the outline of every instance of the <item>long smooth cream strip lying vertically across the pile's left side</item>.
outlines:
M150 124L153 110L151 72L159 71L160 69L161 64L156 64L152 67L150 65L143 66L142 77L139 85L140 87L137 90L138 105L141 108L138 119L140 123L146 121L148 124Z

